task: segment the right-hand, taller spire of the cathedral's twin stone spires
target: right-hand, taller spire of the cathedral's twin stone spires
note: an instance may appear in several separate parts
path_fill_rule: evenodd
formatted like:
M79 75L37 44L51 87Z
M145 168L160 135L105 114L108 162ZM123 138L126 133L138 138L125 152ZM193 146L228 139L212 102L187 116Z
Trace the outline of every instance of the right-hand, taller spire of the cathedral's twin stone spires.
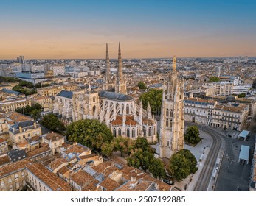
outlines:
M126 94L126 81L125 81L125 77L123 77L123 74L122 74L122 57L121 57L120 43L118 48L118 68L117 68L117 77L115 82L115 92Z

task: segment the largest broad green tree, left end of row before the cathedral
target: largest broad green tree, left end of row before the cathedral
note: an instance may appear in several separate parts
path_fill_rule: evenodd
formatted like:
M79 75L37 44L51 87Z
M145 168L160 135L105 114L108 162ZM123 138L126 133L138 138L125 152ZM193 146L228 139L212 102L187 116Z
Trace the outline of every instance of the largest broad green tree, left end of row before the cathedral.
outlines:
M111 143L114 138L111 130L96 119L72 122L66 129L66 137L99 152L103 143Z

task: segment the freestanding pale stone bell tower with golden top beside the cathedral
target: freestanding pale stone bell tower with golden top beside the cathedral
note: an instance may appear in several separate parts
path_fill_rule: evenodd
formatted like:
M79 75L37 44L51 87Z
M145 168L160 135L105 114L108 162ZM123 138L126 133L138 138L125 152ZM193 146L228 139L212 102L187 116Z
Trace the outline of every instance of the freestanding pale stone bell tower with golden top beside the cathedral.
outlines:
M176 57L173 57L173 70L167 77L163 90L159 157L167 163L170 156L184 148L184 81L178 79Z

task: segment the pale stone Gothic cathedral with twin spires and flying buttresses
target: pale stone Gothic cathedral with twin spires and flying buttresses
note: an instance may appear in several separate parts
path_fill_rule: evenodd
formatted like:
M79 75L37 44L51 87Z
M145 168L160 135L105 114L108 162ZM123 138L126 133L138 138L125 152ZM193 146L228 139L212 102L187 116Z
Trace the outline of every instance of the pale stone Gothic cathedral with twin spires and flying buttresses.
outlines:
M119 43L118 66L116 77L111 77L108 44L106 45L105 79L103 90L65 91L55 96L53 113L58 113L63 119L72 121L80 119L98 119L111 129L113 135L136 139L145 137L149 142L157 141L157 122L148 104L143 110L126 94L126 80L122 74L122 57ZM114 90L114 92L113 92Z

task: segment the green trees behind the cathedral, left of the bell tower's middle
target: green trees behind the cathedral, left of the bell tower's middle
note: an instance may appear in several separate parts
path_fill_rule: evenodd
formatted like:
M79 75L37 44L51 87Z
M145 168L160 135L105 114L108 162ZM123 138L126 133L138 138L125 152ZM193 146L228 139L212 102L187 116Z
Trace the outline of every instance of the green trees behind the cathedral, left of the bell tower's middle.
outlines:
M142 106L145 110L147 109L149 102L152 113L161 113L162 90L150 89L147 93L142 93L142 95L139 96L139 100L142 100Z

